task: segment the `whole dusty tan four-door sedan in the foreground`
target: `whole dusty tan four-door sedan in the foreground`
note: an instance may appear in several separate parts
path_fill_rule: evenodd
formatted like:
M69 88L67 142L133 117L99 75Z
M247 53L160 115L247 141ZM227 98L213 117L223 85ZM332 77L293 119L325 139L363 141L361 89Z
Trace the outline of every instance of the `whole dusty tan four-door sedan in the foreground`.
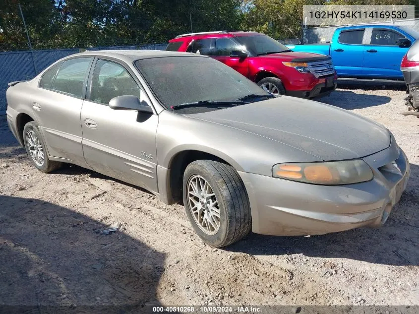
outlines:
M307 235L380 226L410 174L385 127L333 106L274 97L205 56L85 52L10 85L7 122L35 167L72 163L167 204L183 199L193 228L215 247L250 230Z

